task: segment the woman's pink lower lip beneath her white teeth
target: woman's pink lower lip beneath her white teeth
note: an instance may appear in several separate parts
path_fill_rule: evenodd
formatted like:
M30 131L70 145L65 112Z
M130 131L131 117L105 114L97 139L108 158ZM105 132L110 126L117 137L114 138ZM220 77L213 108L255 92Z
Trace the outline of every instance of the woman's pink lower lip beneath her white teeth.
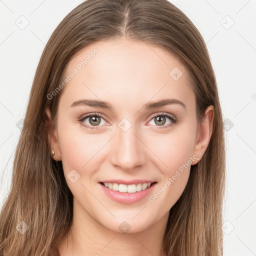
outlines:
M111 198L114 201L117 201L120 203L126 203L126 204L137 202L142 198L146 197L152 191L155 184L156 183L153 183L151 186L147 187L146 189L135 192L135 193L127 193L127 192L124 193L124 192L119 192L119 191L109 189L105 187L103 184L99 183L99 185L102 187L103 191L109 198Z

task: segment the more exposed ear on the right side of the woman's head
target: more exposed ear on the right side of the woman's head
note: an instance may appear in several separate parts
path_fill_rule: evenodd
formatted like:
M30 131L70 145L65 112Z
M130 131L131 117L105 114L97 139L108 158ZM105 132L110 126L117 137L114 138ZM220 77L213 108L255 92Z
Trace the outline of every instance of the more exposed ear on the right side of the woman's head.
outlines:
M205 109L204 117L199 124L199 130L197 132L193 148L193 155L197 155L197 158L192 161L191 165L196 164L202 158L205 150L207 149L212 134L213 120L214 107L210 105Z

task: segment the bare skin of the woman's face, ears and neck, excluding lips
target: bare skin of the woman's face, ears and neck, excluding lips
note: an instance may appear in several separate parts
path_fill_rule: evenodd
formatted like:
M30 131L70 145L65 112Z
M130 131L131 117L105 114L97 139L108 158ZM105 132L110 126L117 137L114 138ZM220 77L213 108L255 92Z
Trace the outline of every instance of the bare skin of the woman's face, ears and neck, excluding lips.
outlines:
M74 196L72 228L58 247L60 255L164 255L161 245L168 213L185 188L190 165L153 202L149 196L132 204L113 201L98 182L151 179L157 181L153 195L189 157L191 165L200 160L212 134L213 106L207 107L197 126L195 95L185 66L164 49L126 37L86 46L70 59L64 76L94 48L99 52L62 89L56 128L49 133L52 158L62 161ZM182 71L177 80L169 75L174 67ZM85 98L107 101L113 109L70 107ZM166 98L182 101L185 108L176 103L142 108L148 101ZM94 112L104 117L95 129L78 121ZM152 117L154 113L162 116L161 112L179 121L161 128L171 122L166 117L159 124ZM49 109L46 113L51 122ZM126 131L118 126L124 117L131 124ZM89 117L84 122L93 126ZM72 169L80 175L74 183L67 178ZM123 221L130 226L127 233L118 228Z

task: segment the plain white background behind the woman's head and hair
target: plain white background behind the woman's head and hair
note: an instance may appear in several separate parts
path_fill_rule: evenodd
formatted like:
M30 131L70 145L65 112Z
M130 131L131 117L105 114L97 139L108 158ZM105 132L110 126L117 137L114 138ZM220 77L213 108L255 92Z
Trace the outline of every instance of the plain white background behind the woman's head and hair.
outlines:
M256 0L171 2L201 32L217 78L226 123L224 255L256 255ZM0 206L11 181L16 123L24 117L40 55L54 28L79 3L0 0Z

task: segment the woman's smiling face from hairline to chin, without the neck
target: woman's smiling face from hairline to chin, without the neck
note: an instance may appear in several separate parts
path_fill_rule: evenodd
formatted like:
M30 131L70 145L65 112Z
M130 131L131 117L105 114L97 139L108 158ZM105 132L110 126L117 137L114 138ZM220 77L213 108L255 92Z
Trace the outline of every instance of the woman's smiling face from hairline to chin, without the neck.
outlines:
M186 67L164 49L121 38L80 50L67 75L53 148L75 210L118 232L166 220L202 153Z

